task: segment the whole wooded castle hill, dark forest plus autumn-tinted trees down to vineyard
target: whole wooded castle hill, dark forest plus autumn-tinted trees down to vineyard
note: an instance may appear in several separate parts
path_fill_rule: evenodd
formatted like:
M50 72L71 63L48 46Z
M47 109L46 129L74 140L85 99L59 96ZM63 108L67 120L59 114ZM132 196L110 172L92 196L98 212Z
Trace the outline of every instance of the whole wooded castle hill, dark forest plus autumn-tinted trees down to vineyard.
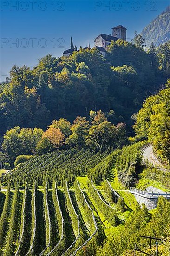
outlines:
M2 167L57 149L121 145L144 99L169 76L170 42L145 52L140 41L118 40L106 59L80 49L69 58L49 54L33 70L12 67L0 91Z

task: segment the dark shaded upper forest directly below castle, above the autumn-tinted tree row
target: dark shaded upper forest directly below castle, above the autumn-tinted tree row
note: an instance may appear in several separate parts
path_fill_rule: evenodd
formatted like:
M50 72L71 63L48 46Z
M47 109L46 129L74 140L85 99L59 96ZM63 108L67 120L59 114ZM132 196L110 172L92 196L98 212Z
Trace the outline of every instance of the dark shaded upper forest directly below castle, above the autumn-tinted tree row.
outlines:
M0 133L14 126L46 129L54 119L73 121L90 110L115 112L114 124L126 122L144 99L170 74L169 45L146 53L118 40L104 59L97 49L80 49L71 57L47 55L37 66L13 66L0 91Z

